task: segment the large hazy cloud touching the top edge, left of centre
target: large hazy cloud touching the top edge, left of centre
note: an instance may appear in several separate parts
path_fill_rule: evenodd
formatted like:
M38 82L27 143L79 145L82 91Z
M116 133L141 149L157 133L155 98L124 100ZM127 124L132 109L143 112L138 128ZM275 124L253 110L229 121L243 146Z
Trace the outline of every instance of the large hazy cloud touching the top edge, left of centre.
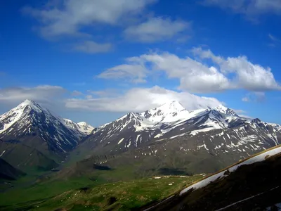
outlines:
M85 26L95 24L118 25L122 19L131 18L155 0L59 0L38 9L23 8L23 12L37 18L44 37L84 34Z

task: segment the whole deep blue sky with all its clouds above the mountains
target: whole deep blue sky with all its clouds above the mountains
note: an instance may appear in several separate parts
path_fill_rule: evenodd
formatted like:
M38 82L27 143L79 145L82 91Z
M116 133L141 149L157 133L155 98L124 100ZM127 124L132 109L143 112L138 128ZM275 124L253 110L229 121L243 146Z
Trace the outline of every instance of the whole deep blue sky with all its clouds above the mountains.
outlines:
M4 1L0 112L98 126L178 100L281 124L280 23L279 0Z

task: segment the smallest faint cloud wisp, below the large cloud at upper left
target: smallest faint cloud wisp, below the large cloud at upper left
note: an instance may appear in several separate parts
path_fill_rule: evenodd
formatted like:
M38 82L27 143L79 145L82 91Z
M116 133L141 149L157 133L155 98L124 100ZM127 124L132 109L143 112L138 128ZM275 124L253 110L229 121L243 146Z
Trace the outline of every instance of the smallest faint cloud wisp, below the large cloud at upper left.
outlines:
M74 44L73 51L80 51L83 53L105 53L112 49L112 44L98 44L95 41L83 41L79 44Z

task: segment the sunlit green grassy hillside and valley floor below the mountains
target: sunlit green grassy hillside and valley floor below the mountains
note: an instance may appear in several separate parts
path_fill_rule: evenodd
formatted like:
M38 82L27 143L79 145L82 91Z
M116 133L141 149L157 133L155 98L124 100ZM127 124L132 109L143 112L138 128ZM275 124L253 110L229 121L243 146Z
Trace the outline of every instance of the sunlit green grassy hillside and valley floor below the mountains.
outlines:
M171 196L202 177L150 177L110 184L87 179L47 182L0 195L0 210L131 210Z

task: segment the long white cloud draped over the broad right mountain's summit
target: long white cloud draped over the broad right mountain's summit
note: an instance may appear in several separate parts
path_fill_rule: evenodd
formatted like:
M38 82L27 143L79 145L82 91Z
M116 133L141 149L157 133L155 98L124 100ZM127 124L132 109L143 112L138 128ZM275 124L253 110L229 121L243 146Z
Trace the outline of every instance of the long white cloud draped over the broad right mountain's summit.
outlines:
M216 98L196 96L188 92L171 91L162 87L134 88L122 96L91 99L67 99L67 108L90 111L142 112L169 101L179 101L188 110L220 106Z

